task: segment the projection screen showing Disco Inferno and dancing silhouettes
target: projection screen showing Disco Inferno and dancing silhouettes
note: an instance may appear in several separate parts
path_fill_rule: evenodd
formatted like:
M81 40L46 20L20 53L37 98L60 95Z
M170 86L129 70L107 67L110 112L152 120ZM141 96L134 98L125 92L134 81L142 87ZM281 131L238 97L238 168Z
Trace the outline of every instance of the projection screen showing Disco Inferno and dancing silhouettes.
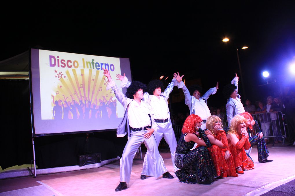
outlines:
M106 90L102 68L118 87L117 73L131 78L129 58L31 49L33 136L117 128L124 108Z

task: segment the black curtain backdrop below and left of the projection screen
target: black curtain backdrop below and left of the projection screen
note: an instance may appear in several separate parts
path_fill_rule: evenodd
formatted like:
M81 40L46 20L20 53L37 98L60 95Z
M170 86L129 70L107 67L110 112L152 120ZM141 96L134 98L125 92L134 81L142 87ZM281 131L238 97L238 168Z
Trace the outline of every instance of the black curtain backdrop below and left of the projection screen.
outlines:
M1 142L0 166L31 164L33 159L30 117L30 90L28 80L0 80L1 95ZM89 133L88 149L86 134L52 135L34 138L36 165L50 168L78 165L78 155L85 151L101 153L101 160L122 155L127 136L117 138L116 131Z

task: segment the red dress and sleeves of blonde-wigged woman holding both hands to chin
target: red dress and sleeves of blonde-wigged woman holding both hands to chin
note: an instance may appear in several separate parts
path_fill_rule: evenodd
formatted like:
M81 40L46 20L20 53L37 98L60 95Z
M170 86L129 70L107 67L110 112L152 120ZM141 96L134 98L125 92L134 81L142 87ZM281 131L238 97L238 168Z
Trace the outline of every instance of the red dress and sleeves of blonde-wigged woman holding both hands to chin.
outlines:
M236 136L239 139L236 146L228 141L228 147L234 158L235 168L242 167L243 170L254 169L253 161L245 152L245 149L248 150L251 147L248 137L245 135L240 136L238 134L236 134Z

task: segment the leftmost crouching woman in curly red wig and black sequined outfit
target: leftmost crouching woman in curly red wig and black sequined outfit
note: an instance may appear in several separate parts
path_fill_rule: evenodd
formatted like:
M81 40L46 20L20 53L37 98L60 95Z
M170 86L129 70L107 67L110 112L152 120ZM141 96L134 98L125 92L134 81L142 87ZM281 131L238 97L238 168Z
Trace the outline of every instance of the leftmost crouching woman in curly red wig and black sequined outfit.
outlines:
M175 174L180 182L211 184L216 177L215 167L207 150L211 143L204 131L199 128L201 125L202 119L195 114L189 115L183 124L175 152L175 165L180 169ZM195 143L201 146L190 150Z

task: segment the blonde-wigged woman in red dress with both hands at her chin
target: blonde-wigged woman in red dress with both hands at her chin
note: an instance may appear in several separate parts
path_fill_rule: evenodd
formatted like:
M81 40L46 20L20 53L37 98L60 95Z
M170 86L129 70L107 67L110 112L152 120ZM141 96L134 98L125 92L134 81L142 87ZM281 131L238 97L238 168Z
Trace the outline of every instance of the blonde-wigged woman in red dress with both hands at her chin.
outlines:
M228 147L234 158L237 173L244 173L243 170L254 169L253 161L247 156L245 149L251 147L249 135L246 130L247 120L236 115L231 122L230 130L227 132Z

